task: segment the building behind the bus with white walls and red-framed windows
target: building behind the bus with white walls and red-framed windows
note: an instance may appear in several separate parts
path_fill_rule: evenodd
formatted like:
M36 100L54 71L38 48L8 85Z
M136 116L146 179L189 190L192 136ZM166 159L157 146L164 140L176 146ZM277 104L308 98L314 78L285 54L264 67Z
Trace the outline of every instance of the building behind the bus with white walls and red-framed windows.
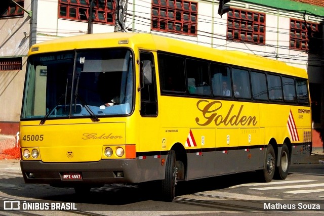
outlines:
M91 2L5 0L7 5L0 6L3 133L18 131L30 45L88 32L125 31L165 35L214 49L240 50L306 69L312 100L313 142L322 145L323 1L232 0L226 4L230 6L229 12L220 16L217 0L93 0L93 22L89 25Z

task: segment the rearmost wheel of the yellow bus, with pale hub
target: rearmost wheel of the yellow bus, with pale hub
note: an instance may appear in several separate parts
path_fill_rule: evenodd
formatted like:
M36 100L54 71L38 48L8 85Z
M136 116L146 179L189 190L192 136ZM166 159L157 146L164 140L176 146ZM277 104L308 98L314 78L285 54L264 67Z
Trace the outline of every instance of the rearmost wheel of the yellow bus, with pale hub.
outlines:
M278 159L280 159L280 163L279 166L276 167L274 175L276 179L284 180L288 176L290 166L289 149L285 143L282 145L281 154Z

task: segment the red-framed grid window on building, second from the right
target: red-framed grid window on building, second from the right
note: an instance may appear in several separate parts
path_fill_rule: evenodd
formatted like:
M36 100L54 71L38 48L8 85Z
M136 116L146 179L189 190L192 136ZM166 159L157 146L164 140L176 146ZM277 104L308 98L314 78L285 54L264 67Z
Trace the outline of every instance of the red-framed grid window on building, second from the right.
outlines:
M265 14L230 9L227 13L227 39L265 44Z

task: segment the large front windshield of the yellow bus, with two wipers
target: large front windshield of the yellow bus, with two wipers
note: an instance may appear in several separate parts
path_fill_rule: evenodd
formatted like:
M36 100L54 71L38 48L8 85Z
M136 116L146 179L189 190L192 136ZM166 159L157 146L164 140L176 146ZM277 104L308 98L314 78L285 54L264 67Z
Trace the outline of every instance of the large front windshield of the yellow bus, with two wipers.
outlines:
M127 49L32 55L22 119L127 115L133 104L133 60Z

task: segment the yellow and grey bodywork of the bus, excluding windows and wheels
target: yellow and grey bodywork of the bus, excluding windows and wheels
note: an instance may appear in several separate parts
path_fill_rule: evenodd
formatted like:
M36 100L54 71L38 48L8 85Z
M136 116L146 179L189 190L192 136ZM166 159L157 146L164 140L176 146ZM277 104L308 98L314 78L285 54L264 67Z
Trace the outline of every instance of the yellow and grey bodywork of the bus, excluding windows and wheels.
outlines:
M182 161L180 165L177 164L179 181L262 170L269 144L275 149L277 157L281 146L287 144L290 163L310 154L309 99L306 105L299 105L237 100L233 97L201 98L161 94L158 53L307 80L307 73L303 69L237 51L221 51L168 37L136 33L89 34L51 40L33 45L28 55L120 47L131 49L137 62L140 61L140 52L152 54L156 74L157 115L143 117L140 114L140 65L136 63L135 102L130 115L111 118L99 116L100 121L97 122L90 118L47 119L44 124L39 124L39 119L22 119L22 155L25 149L39 151L36 158L22 156L21 167L26 183L73 187L79 183L96 185L164 180L171 150L175 151L177 160ZM298 134L295 139L289 132L290 113ZM115 154L107 157L104 154L106 147L111 147L113 151L122 147L126 152L122 157ZM124 162L118 163L118 160ZM104 164L108 163L111 165L105 169ZM128 168L132 170L124 169L131 163ZM280 160L277 159L275 163L279 166ZM82 166L85 170L80 168ZM124 178L114 176L116 171L123 170ZM45 175L46 172L50 175ZM64 181L56 172L60 175L63 172L80 172L83 180Z

